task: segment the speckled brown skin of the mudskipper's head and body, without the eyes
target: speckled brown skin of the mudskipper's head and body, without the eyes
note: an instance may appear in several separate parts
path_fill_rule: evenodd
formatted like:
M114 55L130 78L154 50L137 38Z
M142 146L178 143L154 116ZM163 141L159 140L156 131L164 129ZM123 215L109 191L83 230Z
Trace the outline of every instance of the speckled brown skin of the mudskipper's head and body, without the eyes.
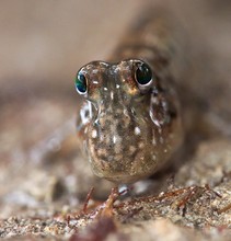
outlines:
M141 25L142 27L140 27ZM182 120L171 71L174 42L158 18L139 22L113 58L83 66L88 82L78 135L93 172L116 183L131 183L157 172L180 147ZM173 43L173 45L172 45ZM146 61L153 81L141 88L136 62Z

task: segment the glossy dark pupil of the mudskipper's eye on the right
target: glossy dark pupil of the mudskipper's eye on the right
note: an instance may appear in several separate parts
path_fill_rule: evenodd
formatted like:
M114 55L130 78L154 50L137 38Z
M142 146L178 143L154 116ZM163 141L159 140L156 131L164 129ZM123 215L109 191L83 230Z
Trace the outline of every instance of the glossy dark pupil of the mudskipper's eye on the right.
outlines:
M152 80L152 71L147 64L137 67L136 79L139 84L147 84Z

